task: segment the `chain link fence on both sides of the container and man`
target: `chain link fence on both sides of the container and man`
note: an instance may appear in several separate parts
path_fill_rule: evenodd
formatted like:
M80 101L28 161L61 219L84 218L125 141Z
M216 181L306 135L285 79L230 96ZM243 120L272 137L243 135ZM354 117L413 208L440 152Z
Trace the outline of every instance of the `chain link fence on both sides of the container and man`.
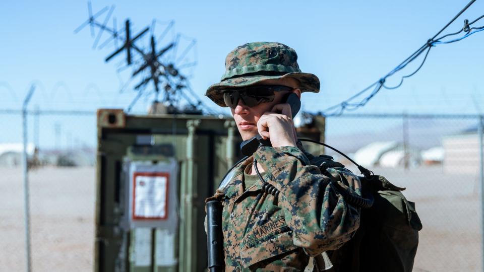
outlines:
M0 116L18 118L19 126L10 133L20 142L20 115ZM33 158L37 152L38 161L29 172L32 268L91 271L95 114L31 112L28 118L29 142L40 146L31 153ZM405 196L416 203L423 229L414 271L482 271L480 118L382 114L326 119L327 144L406 187ZM359 173L344 158L326 153ZM0 270L5 271L25 269L22 168L15 156L0 155Z

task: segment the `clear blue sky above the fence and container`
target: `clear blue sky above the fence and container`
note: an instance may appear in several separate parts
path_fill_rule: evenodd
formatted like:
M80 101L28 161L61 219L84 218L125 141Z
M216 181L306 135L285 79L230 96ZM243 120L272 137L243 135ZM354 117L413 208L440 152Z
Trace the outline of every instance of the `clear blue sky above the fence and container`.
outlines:
M320 78L321 92L302 97L304 110L318 111L388 73L436 34L467 1L92 3L94 11L112 4L118 23L130 18L135 32L150 25L152 19L174 20L176 32L197 40L198 65L193 69L191 85L206 104L212 102L203 94L219 81L230 50L250 41L279 41L297 51L302 71ZM457 31L464 19L473 20L483 11L484 4L477 1L448 32ZM129 105L135 92L119 93L116 73L116 63L123 57L105 63L113 47L93 50L89 28L73 33L86 19L86 1L0 3L0 109L20 109L34 82L38 88L31 109L94 111ZM484 25L484 19L481 21L477 26ZM382 90L356 112L481 113L483 42L484 31L460 42L436 46L422 69L401 88ZM417 62L401 75L412 72ZM399 80L397 75L387 83L391 86ZM140 101L134 109L143 112L148 102ZM0 135L0 143L21 141L20 121L20 116L0 114L1 125L11 128ZM32 134L32 119L29 122ZM55 123L62 126L61 144L55 143ZM41 146L65 146L69 141L95 143L94 117L42 116L40 125Z

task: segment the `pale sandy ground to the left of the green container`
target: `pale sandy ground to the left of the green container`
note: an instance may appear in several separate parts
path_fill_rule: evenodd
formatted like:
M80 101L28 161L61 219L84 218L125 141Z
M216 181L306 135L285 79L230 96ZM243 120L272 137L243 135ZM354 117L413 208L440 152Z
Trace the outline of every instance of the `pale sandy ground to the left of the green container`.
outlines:
M0 271L25 271L22 170L0 171ZM92 271L94 168L44 168L29 180L32 270Z

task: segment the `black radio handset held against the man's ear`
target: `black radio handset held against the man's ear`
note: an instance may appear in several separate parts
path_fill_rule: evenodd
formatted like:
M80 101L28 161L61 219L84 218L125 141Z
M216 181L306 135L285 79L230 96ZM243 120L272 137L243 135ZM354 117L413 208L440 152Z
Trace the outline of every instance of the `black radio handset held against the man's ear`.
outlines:
M281 104L289 104L291 107L292 118L296 116L301 108L301 100L295 93L285 94L284 97L282 97ZM260 146L272 147L271 140L269 138L264 140L261 135L257 134L257 136L240 144L240 152L244 154L244 156L252 156Z

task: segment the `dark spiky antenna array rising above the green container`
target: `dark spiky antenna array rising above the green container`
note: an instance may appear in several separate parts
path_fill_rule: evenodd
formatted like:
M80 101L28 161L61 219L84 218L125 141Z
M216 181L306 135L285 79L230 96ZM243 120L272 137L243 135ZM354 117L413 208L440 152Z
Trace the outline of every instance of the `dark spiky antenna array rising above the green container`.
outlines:
M104 59L106 62L125 52L126 61L119 63L117 72L121 73L131 69L130 80L126 85L130 85L135 79L139 80L138 84L133 86L138 94L128 106L127 111L130 111L141 97L154 95L154 104L161 102L167 106L169 113L201 113L202 109L208 113L214 113L191 89L188 81L190 76L187 76L185 72L186 69L193 68L197 64L197 41L195 39L175 34L173 21L162 24L153 20L151 26L145 27L133 35L133 27L129 19L125 20L124 28L118 29L116 18L112 17L114 5L110 8L104 7L94 14L91 2L87 3L87 7L89 17L74 30L74 33L89 26L91 37L94 38L93 49L113 45L115 50ZM157 24L166 26L161 35L156 38L155 26ZM169 32L172 33L172 40L165 42L163 46L158 46L163 40L166 40L164 38ZM150 35L147 35L148 33ZM147 37L149 37L149 45L145 48L143 44L146 44ZM99 44L103 38L104 41ZM181 46L180 43L182 39L186 42L184 46ZM152 88L148 88L150 82ZM180 109L182 101L186 102L183 110Z

